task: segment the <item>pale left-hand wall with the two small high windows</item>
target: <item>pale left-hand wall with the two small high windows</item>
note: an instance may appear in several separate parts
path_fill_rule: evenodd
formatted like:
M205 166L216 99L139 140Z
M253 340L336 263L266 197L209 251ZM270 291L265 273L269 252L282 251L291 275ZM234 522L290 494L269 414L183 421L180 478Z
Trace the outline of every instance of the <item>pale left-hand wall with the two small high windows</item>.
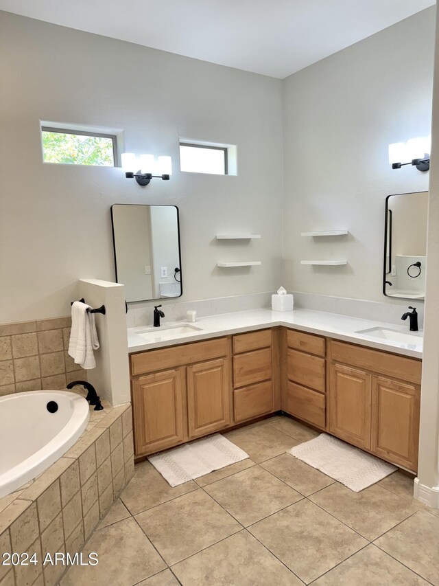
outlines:
M178 205L182 300L278 286L281 80L6 12L0 76L0 323L68 315L79 278L114 279L112 203ZM126 151L171 155L171 180L43 164L38 120L122 129ZM237 144L237 177L180 174L179 136ZM219 232L262 240L220 246ZM217 269L224 258L262 265Z

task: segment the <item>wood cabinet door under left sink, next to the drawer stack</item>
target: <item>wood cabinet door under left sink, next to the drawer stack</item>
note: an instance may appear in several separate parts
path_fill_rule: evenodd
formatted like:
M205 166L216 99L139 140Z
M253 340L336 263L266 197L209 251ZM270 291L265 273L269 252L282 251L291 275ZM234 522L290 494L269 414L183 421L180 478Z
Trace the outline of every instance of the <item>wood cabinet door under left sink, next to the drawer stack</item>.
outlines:
M227 359L187 368L189 438L206 436L230 423L230 374Z

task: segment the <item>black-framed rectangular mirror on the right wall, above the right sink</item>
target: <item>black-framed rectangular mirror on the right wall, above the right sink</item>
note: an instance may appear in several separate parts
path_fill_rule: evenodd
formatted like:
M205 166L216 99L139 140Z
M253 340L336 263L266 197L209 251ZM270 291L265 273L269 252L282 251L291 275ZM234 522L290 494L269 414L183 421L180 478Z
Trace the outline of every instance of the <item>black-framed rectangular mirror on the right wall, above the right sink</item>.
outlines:
M424 299L427 269L428 192L385 199L383 293Z

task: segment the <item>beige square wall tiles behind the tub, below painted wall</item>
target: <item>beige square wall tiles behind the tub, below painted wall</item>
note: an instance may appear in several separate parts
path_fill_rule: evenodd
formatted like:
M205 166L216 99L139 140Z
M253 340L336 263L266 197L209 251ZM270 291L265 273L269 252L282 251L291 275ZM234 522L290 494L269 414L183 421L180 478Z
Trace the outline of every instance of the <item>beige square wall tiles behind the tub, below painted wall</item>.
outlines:
M67 354L70 317L0 324L0 395L60 390L86 371Z

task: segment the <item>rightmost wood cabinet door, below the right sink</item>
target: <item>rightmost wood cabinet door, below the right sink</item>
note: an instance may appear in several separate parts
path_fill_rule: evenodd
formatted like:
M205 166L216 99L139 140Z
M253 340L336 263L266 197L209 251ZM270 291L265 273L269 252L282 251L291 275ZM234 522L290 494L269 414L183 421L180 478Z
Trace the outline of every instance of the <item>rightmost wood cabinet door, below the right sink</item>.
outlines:
M420 387L383 376L372 381L372 451L416 472Z

